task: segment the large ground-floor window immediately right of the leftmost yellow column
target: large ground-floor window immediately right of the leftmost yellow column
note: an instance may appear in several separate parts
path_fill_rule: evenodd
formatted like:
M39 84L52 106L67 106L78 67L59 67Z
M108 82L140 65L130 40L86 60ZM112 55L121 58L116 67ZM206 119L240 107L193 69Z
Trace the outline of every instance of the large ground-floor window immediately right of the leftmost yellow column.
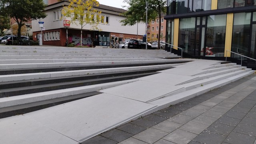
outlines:
M196 18L180 18L178 47L194 54Z

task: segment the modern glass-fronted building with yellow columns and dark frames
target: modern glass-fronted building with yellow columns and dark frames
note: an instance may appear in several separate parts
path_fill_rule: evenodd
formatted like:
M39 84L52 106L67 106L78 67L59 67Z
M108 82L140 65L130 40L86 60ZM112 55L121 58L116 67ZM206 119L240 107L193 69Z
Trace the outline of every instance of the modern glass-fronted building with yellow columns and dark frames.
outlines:
M256 58L256 0L168 0L164 18L166 42L191 56Z

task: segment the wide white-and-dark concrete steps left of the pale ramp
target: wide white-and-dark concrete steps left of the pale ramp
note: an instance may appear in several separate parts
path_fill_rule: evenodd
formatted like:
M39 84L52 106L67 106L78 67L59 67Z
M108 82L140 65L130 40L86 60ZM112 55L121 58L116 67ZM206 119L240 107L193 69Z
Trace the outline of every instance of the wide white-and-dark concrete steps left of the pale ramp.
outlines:
M0 118L93 96L98 90L190 61L173 59L179 56L163 50L21 46L1 50Z

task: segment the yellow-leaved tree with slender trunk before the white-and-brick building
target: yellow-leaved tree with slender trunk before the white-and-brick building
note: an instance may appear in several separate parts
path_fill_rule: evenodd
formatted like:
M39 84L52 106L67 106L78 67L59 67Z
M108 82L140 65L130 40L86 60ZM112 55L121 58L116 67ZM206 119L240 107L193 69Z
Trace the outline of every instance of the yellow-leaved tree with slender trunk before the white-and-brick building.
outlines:
M62 9L62 15L69 17L70 21L81 26L82 46L82 30L86 24L92 26L92 29L99 30L98 24L101 22L100 11L94 7L99 6L97 0L68 0L70 4Z

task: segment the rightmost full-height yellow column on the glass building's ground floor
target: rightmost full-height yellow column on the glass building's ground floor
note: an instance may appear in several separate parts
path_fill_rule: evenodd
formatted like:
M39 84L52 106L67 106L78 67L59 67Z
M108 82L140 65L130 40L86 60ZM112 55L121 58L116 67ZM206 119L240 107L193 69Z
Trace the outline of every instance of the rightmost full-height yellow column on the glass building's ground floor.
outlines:
M230 52L227 52L226 50L231 51L231 42L232 42L232 30L233 30L233 18L234 14L230 13L227 14L227 23L226 23L226 38L225 38L225 51L224 56L230 57Z

